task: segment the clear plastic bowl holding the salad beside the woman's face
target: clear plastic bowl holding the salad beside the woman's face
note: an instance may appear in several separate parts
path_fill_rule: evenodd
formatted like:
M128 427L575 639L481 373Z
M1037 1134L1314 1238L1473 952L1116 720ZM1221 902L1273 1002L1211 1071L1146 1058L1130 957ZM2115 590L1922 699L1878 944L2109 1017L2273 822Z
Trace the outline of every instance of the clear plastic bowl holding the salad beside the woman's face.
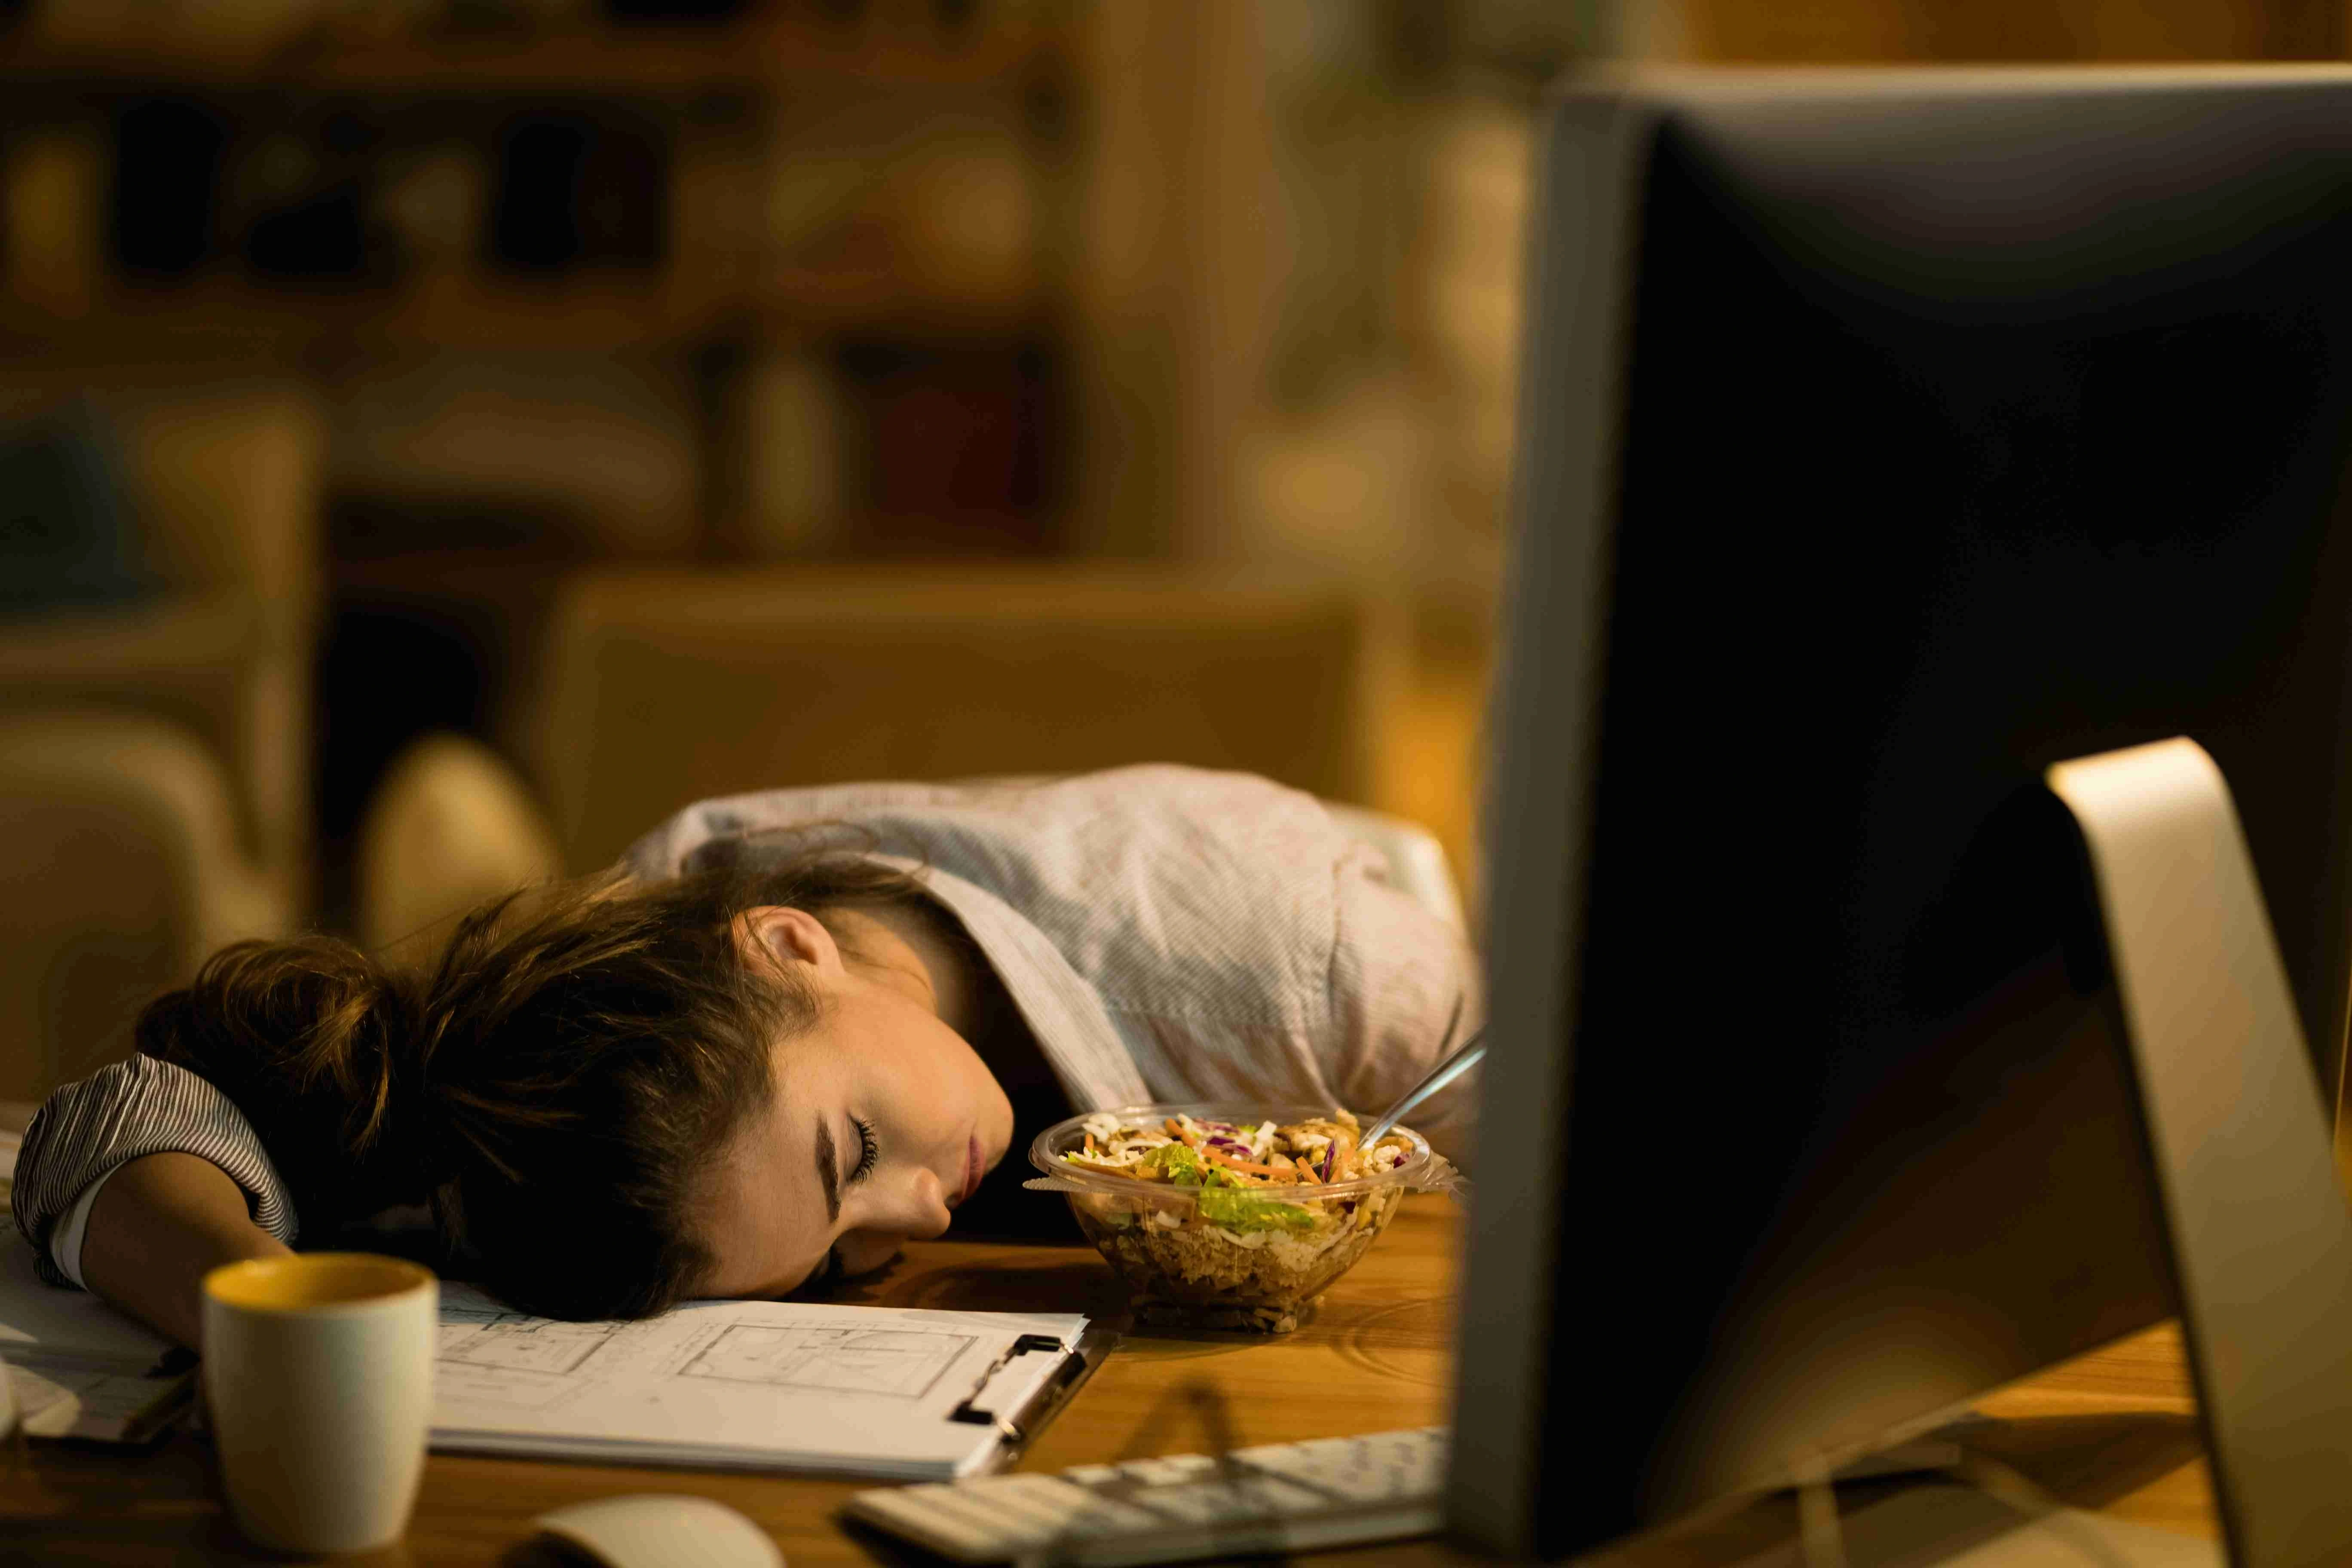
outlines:
M1399 1126L1397 1135L1411 1145L1411 1154L1390 1171L1343 1182L1249 1190L1298 1204L1312 1215L1310 1227L1235 1232L1211 1225L1200 1213L1204 1192L1232 1194L1232 1187L1138 1182L1068 1164L1063 1154L1084 1150L1087 1121L1101 1114L1143 1126L1160 1126L1178 1114L1195 1121L1287 1126L1331 1117L1331 1107L1122 1105L1112 1112L1070 1117L1037 1133L1030 1164L1044 1175L1030 1180L1030 1190L1061 1192L1070 1199L1070 1213L1077 1215L1087 1241L1134 1291L1138 1324L1289 1333L1324 1288L1371 1251L1406 1192L1454 1185L1454 1168L1421 1133Z

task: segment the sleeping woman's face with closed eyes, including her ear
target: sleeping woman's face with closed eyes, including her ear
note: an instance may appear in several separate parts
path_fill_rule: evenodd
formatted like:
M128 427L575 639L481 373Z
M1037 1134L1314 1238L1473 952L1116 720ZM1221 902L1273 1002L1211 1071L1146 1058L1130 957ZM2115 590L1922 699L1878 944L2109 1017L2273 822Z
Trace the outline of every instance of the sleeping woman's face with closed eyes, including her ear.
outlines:
M776 1093L736 1138L706 1239L706 1295L786 1295L861 1274L948 1229L1011 1147L1014 1110L936 1011L920 964L849 961L821 922L764 907L739 922L753 961L800 966L823 1006L774 1044ZM830 1262L828 1262L830 1260Z

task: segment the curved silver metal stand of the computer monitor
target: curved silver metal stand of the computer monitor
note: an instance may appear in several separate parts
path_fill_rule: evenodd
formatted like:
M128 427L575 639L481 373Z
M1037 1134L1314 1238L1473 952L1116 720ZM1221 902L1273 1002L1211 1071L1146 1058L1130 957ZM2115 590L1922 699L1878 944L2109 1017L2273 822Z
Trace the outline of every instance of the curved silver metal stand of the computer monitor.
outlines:
M2044 778L2105 931L2227 1561L2352 1561L2352 1211L2230 788L2187 738ZM1839 1535L1856 1568L2216 1556L1950 1483L1860 1509Z

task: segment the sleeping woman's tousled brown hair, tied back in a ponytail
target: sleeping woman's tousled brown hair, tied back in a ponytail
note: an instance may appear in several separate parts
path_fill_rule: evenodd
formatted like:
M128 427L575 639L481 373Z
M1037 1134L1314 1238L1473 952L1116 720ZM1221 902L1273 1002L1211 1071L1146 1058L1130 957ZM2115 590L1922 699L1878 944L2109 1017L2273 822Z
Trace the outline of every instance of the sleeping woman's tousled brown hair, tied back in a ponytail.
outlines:
M139 1051L238 1103L306 1229L430 1204L510 1305L647 1316L708 1276L715 1157L776 1093L771 1041L818 1018L741 959L736 914L920 896L842 851L710 860L499 900L421 971L325 936L238 943L148 1004Z

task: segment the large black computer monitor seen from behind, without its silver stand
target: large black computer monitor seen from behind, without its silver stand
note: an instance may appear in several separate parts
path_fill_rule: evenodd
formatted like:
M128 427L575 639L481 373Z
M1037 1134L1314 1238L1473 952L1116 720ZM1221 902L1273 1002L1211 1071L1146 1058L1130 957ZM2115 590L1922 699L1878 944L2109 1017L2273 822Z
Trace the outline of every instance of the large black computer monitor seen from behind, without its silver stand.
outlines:
M2173 1312L2046 766L2218 759L2333 1107L2352 73L1637 75L1541 169L1449 1519L1562 1556Z

